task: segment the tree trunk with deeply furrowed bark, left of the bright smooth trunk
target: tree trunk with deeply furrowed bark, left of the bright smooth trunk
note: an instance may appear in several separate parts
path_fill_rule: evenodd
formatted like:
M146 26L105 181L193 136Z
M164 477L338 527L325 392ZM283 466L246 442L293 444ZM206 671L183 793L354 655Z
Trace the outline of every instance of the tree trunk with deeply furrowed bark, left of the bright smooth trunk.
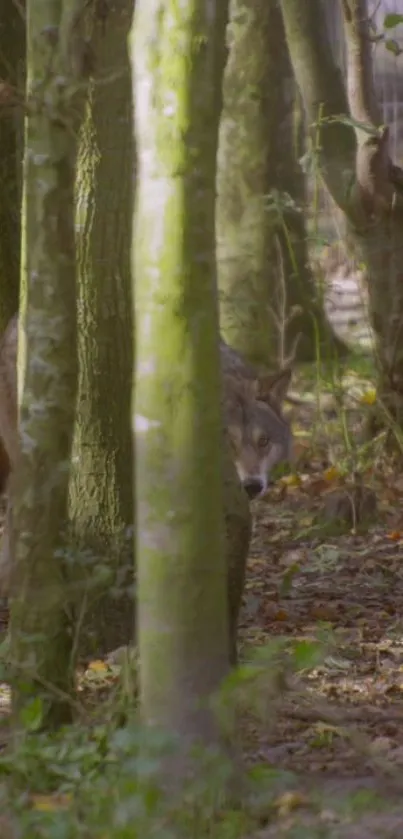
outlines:
M127 644L134 631L131 17L125 0L95 22L97 72L77 174L79 390L70 516L85 570L78 644L93 655Z

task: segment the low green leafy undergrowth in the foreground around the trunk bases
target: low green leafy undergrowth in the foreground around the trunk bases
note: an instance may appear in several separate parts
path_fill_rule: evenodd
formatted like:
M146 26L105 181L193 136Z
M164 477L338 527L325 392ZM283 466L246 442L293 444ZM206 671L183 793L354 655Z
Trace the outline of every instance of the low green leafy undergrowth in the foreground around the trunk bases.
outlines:
M279 796L293 784L292 775L275 767L234 764L245 719L275 724L275 709L292 689L293 678L317 666L328 647L329 637L322 633L311 642L275 639L255 650L213 700L223 742L231 749L221 754L195 749L194 770L179 791L164 791L160 784L161 762L175 755L179 742L141 725L133 694L129 707L127 683L118 682L113 666L104 671L94 667L92 683L87 674L90 686L84 677L81 684L88 700L98 674L99 707L92 696L87 706L83 701L75 724L43 732L38 703L0 754L1 810L10 830L1 835L243 839L262 819L276 817ZM107 674L110 695L102 700ZM118 709L125 709L120 717Z

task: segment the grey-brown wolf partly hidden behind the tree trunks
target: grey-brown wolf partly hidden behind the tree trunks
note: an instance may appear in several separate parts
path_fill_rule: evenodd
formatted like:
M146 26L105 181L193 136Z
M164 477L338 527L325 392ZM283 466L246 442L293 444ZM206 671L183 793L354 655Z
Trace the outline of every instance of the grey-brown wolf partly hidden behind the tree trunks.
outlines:
M18 456L17 351L16 314L0 340L0 492L6 489L8 495ZM292 433L281 411L291 371L259 376L222 339L220 357L224 424L240 481L252 499L267 489L270 470L291 456ZM8 499L0 550L0 597L9 592L11 519Z

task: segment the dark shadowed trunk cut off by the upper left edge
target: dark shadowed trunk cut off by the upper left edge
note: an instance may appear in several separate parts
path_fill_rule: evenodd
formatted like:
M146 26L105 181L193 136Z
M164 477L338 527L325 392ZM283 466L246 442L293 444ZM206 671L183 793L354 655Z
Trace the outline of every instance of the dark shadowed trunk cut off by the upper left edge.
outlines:
M0 334L18 309L25 25L14 0L0 0Z

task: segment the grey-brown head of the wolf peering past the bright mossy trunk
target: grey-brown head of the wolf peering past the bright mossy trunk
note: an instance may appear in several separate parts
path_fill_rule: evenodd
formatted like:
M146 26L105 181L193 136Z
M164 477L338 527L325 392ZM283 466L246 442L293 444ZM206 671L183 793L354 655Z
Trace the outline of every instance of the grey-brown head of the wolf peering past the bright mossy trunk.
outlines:
M224 377L225 420L235 465L249 498L267 489L270 472L292 458L292 431L282 414L291 370L244 378Z

